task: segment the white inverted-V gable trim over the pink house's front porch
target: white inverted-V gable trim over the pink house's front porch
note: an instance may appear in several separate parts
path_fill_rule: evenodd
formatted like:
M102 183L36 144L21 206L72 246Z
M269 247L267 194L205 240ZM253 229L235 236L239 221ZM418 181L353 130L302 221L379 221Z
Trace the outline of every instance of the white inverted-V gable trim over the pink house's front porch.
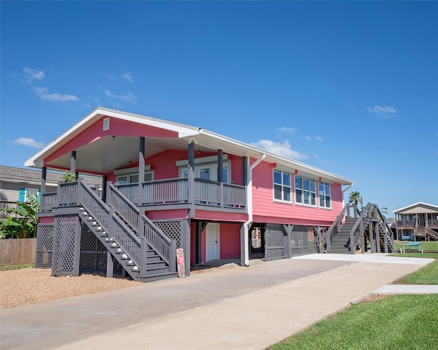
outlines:
M32 157L27 159L25 161L26 167L43 167L43 159L44 155L47 153L51 153L51 149L57 145L60 144L61 146L63 144L66 144L66 142L70 141L77 133L80 131L83 131L86 129L86 125L92 124L95 120L98 120L99 118L102 118L103 116L109 116L112 118L119 118L123 120L129 120L131 122L136 122L138 124L145 124L145 125L151 125L156 126L160 129L166 129L170 131L175 131L178 133L179 137L191 137L194 135L198 135L198 129L195 126L189 126L189 125L183 125L178 124L174 122L166 122L166 120L159 120L157 118L151 118L146 116L140 116L138 114L133 113L125 113L121 111L116 111L114 109L106 109L103 107L97 107L88 114L88 116L82 118L74 124L70 129L68 129L66 132L62 133L60 136L55 138L52 142L44 146L40 151L38 151L36 154L34 154ZM111 126L110 126L111 127Z

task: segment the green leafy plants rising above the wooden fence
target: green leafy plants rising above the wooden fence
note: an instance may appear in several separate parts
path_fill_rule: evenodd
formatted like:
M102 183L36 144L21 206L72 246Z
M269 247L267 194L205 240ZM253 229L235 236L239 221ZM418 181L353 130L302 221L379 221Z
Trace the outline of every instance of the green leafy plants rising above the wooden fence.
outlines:
M0 239L36 237L36 213L40 203L36 194L28 196L27 200L28 202L16 202L16 208L5 208L9 215L8 219L0 221Z

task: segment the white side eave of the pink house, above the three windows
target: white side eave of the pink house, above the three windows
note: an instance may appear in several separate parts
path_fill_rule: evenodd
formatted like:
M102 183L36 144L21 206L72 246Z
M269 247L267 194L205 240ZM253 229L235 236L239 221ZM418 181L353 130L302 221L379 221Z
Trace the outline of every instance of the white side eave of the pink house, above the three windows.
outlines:
M267 150L263 150L262 148L258 148L255 146L251 146L249 144L245 144L244 142L239 142L235 139L231 139L229 137L225 137L216 133L212 133L211 131L200 129L199 130L200 135L205 135L207 137L214 138L218 140L219 142L223 142L225 145L234 146L237 148L240 148L242 150L241 156L248 156L248 157L257 157L260 154L266 154L266 157L268 157L270 160L272 160L272 163L277 163L279 165L282 165L283 167L290 167L291 169L298 170L298 174L302 172L302 174L311 174L314 176L317 176L318 178L326 179L326 180L332 180L335 183L340 183L341 185L354 185L355 181L352 181L348 178L344 178L343 176L339 176L336 174L333 174L331 172L326 172L325 170L319 169L318 167L312 167L311 165L307 165L305 163L301 163L300 161L295 161L293 159L289 159L286 157L282 157L279 154L274 154L272 152L269 152ZM225 147L224 147L225 150Z

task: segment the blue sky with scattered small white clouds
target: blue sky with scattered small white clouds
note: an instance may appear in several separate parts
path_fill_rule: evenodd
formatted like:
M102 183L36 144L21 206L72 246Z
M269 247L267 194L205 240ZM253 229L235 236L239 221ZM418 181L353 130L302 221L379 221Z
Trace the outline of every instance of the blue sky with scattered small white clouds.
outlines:
M436 1L0 6L1 165L103 106L345 176L389 212L438 204Z

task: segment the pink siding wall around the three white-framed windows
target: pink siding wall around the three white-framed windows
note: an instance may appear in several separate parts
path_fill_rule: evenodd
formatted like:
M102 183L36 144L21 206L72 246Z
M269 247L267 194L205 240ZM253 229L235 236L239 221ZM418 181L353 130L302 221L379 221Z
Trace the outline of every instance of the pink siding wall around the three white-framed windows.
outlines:
M292 194L291 203L274 202L273 170L274 164L261 162L253 170L253 221L273 224L302 224L329 226L342 210L342 187L331 185L331 209L302 206L295 202ZM298 174L306 177L305 174ZM292 185L294 178L292 178ZM318 183L317 183L318 189ZM319 200L317 198L319 205Z

